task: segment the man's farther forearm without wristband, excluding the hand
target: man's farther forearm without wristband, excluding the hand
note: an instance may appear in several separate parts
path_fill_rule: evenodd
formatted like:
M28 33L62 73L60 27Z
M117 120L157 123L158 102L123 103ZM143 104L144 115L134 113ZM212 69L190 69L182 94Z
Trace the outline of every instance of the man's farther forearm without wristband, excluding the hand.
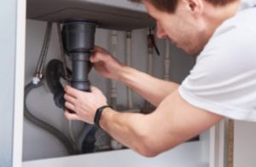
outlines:
M177 83L154 78L129 66L124 66L118 80L155 106L158 106L166 95L170 95L178 87Z

